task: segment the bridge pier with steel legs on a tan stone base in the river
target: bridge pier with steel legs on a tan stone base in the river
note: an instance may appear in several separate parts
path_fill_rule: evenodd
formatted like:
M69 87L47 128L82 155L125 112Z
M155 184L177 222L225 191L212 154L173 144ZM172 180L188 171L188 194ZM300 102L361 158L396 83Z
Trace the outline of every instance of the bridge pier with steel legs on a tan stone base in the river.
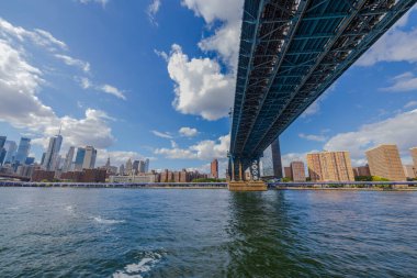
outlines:
M249 165L250 180L245 180L245 166ZM229 162L230 181L228 190L230 191L266 191L267 184L260 179L259 158L244 160L230 157Z

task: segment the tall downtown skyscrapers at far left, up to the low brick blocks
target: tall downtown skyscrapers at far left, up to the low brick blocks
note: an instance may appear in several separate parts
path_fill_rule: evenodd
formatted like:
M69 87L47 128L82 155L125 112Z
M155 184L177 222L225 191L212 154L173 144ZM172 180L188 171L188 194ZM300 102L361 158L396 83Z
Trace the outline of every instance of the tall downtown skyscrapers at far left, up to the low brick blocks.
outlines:
M60 132L49 138L48 147L40 163L30 157L31 138L22 137L19 145L0 136L0 174L7 177L27 178L31 181L105 182L110 175L137 175L149 171L149 159L129 159L126 167L110 165L95 167L98 151L93 146L70 146L66 156L59 152L63 145Z

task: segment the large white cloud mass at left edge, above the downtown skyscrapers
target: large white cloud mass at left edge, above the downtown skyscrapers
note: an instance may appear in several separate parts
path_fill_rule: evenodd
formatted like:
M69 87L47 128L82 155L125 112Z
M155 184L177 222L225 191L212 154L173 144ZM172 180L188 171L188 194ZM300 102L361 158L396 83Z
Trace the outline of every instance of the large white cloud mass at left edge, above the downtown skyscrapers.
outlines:
M83 119L58 118L50 107L45 105L36 94L44 84L43 74L30 65L24 55L0 40L0 121L27 129L42 137L55 135L63 125L68 144L97 147L113 144L114 137L106 125L111 119L104 112L87 109ZM44 142L42 138L34 141Z

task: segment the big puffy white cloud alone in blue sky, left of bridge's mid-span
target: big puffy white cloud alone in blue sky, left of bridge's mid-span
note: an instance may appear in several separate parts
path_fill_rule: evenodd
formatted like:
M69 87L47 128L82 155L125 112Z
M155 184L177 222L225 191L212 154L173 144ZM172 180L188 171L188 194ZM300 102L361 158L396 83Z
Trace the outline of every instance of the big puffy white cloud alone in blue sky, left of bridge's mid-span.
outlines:
M177 84L172 102L176 110L211 121L227 115L233 104L235 80L221 73L217 62L208 58L190 60L179 45L172 45L168 73Z

